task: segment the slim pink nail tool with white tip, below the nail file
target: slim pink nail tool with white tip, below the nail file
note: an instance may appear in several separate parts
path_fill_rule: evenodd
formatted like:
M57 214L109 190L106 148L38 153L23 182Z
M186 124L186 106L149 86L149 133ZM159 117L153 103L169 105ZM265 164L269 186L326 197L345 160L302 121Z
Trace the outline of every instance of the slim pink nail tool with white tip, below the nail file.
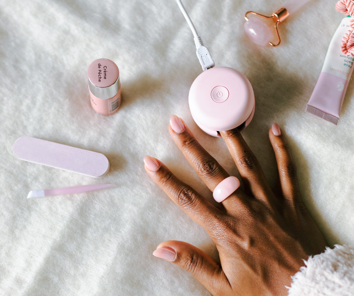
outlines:
M115 184L91 184L91 185L57 188L57 189L32 190L28 193L27 198L45 197L48 195L59 195L59 194L83 193L83 192L89 192L89 191L101 190L101 189L107 189L113 187L116 187L116 185Z

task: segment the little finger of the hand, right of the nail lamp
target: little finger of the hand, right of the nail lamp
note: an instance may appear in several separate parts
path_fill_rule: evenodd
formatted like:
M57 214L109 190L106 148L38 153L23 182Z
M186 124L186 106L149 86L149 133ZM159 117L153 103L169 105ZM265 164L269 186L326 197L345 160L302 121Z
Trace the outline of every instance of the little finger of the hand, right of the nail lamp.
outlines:
M269 129L269 140L275 152L282 195L293 203L302 203L295 162L292 158L289 145L276 123L273 123L272 128Z

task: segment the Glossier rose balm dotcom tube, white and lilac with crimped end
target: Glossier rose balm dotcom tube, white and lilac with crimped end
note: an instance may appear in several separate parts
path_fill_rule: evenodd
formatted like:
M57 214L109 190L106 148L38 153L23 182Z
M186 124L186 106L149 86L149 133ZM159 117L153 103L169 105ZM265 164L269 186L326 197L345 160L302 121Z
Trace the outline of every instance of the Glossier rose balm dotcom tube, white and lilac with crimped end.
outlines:
M349 28L350 17L346 17L332 37L320 77L306 106L306 112L333 124L338 123L353 72L354 57L346 56L341 51L342 38Z

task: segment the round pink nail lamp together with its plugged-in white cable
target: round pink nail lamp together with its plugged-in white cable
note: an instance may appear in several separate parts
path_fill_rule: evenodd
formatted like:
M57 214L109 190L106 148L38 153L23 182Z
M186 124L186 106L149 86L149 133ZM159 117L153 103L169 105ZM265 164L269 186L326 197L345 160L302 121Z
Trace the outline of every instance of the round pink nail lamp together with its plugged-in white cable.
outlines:
M203 72L189 90L189 109L196 124L207 134L220 137L219 131L244 129L255 112L251 83L240 71L218 66L203 45L181 0L176 0L194 35L196 54Z

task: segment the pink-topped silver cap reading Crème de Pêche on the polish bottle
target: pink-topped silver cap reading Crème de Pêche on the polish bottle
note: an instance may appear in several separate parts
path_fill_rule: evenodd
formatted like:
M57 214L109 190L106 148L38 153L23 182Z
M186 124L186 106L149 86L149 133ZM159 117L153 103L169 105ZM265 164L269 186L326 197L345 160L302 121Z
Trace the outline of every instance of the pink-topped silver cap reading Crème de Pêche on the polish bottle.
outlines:
M120 89L119 69L109 59L97 59L87 70L90 92L97 98L110 99Z

